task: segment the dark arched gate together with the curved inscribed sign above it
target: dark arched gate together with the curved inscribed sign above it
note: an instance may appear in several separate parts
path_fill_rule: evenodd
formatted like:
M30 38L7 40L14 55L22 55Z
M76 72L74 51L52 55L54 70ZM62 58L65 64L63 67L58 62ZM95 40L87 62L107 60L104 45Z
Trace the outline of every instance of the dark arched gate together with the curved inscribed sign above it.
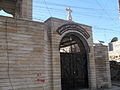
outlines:
M65 24L58 28L62 35L60 42L61 87L62 90L89 88L88 53L86 39L90 37L85 29L77 24Z

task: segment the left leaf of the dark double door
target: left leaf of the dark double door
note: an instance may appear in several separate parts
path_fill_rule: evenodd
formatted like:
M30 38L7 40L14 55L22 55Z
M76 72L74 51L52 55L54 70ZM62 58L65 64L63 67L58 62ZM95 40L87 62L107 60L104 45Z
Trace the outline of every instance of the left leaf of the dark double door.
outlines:
M69 53L61 53L61 79L62 79L62 88L70 89L73 87L73 75L72 75L72 58Z

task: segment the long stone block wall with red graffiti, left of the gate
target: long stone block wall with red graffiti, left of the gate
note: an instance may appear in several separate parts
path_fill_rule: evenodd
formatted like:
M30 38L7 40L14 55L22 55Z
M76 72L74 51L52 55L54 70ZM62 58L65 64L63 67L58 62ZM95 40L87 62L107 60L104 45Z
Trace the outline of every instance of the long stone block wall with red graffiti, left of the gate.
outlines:
M46 90L46 43L43 23L0 16L0 90Z

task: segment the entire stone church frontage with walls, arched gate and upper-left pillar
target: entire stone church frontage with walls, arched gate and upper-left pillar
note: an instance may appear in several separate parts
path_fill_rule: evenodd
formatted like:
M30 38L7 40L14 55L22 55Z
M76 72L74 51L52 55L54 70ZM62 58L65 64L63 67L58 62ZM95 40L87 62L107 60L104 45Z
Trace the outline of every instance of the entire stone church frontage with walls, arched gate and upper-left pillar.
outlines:
M0 16L0 90L111 87L108 50L93 44L91 26L52 17L32 21L32 1L17 1L31 15Z

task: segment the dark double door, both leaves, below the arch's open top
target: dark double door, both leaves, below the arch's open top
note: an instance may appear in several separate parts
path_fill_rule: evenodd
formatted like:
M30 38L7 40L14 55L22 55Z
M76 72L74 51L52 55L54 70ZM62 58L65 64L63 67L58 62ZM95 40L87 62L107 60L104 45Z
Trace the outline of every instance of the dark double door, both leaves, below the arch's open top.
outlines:
M87 57L80 53L60 53L62 90L88 88Z

